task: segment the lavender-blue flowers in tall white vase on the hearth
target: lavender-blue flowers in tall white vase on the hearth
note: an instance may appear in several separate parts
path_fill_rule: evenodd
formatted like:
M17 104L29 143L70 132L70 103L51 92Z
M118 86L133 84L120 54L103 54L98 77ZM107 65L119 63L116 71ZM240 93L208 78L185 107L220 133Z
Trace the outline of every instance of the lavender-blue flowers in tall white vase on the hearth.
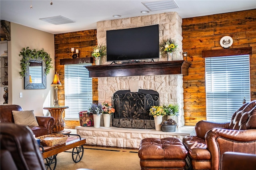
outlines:
M93 121L94 121L94 127L99 128L100 127L100 117L103 113L102 105L101 103L93 103L88 109L90 113L93 114Z

